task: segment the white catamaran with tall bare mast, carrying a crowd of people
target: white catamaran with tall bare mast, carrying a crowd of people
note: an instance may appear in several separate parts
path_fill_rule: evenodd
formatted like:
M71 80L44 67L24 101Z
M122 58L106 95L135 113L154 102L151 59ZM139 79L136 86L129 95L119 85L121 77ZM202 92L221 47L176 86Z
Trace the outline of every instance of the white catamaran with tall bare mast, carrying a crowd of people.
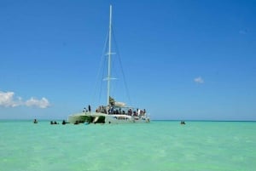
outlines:
M127 106L125 103L117 102L110 96L110 82L111 77L111 39L112 39L112 6L110 5L109 13L109 31L108 31L108 76L105 80L108 81L107 85L107 105L100 105L96 111L85 110L69 115L67 118L68 123L150 123L150 118L145 109L134 108Z

